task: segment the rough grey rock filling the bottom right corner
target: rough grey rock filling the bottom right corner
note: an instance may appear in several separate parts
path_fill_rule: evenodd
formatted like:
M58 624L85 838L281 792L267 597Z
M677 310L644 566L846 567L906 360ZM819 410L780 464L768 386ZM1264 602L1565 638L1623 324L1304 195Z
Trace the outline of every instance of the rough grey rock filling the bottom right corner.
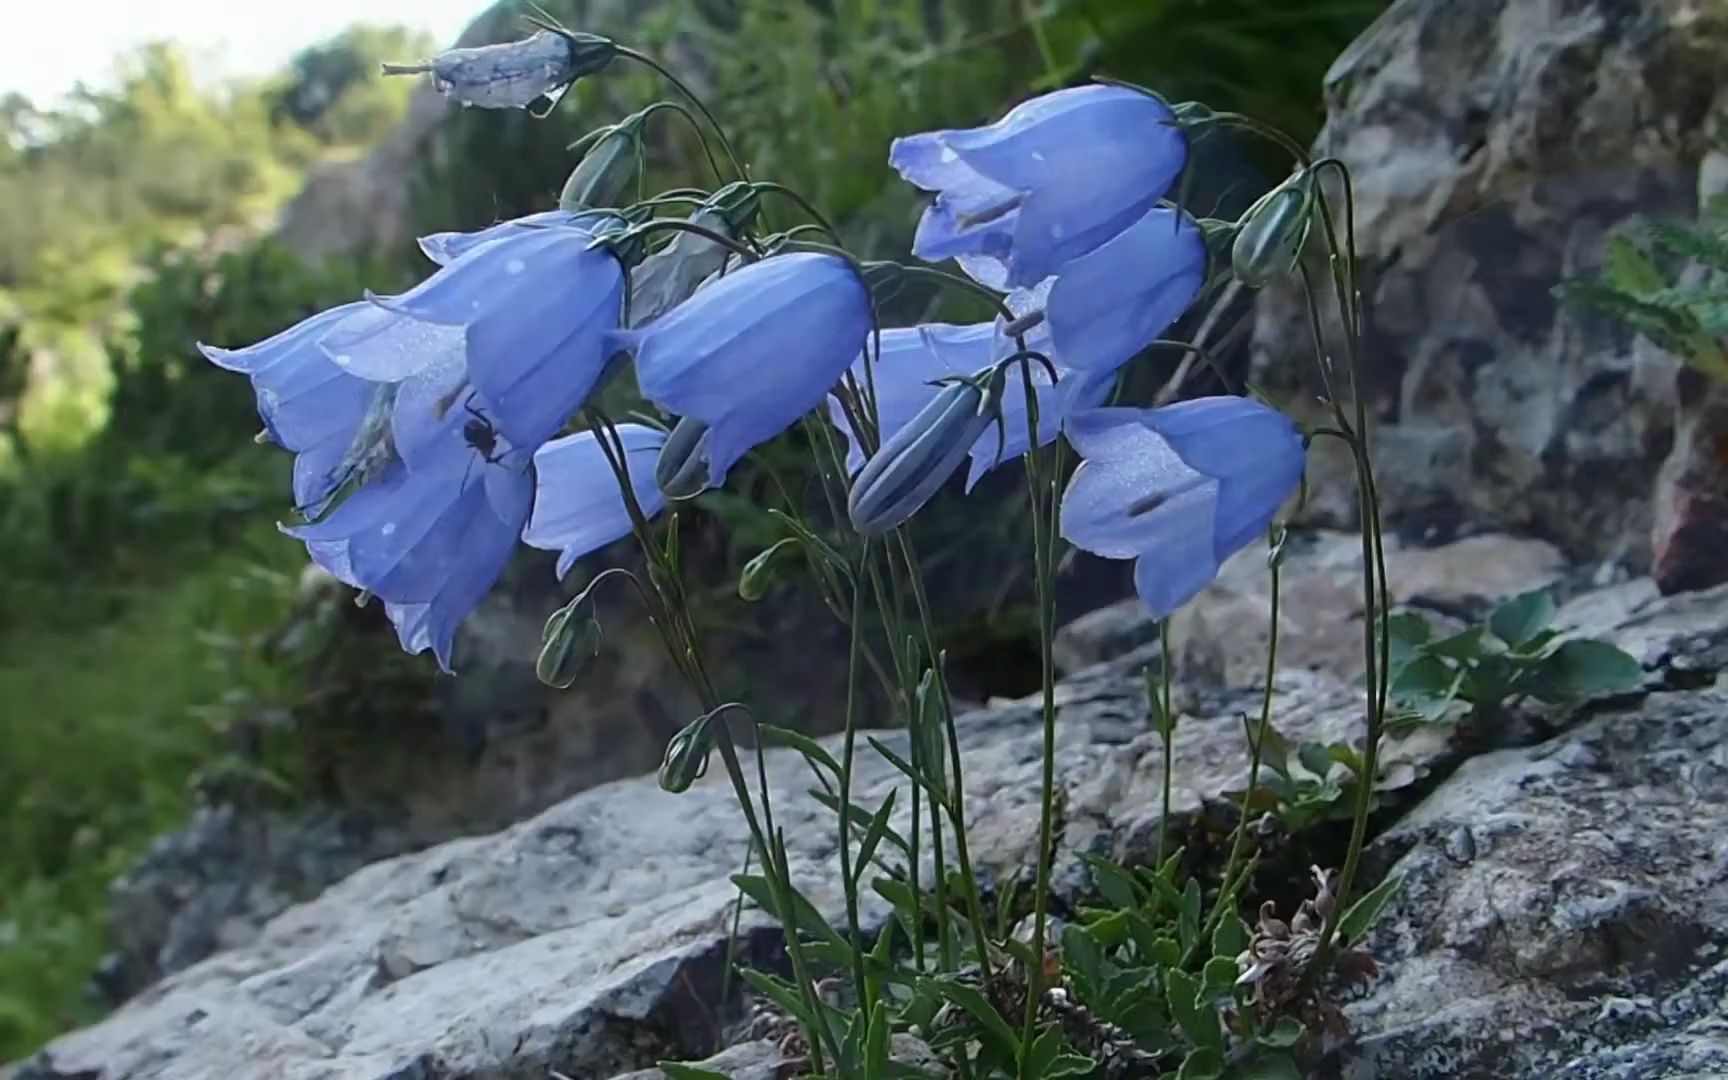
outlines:
M1403 888L1369 942L1382 978L1348 1007L1360 1044L1341 1075L1728 1071L1728 679L1695 686L1721 669L1728 591L1690 605L1709 624L1619 607L1642 612L1623 643L1662 639L1688 688L1471 759L1375 842Z

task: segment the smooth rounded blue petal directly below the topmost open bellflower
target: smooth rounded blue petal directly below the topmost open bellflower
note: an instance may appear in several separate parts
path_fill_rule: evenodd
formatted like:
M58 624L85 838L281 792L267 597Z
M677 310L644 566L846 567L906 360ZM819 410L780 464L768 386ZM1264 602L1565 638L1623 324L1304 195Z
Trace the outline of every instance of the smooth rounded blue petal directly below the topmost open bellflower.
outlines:
M1075 368L1120 368L1187 311L1204 280L1199 226L1154 209L1061 268L1045 308L1056 353Z

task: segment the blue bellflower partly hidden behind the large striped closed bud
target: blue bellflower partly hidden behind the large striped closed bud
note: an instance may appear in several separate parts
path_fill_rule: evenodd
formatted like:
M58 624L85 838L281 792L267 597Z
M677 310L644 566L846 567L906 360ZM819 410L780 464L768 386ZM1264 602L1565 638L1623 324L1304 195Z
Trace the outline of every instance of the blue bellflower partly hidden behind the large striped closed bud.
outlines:
M1026 346L1051 353L1049 334L1035 330L1028 335ZM883 330L881 359L873 363L866 373L864 356L859 356L852 365L852 375L859 389L867 389L874 382L880 439L886 442L937 397L940 392L940 387L935 385L937 380L973 375L1006 358L1013 347L1013 340L1002 337L999 323L900 327ZM1049 372L1042 365L1032 365L1033 394L1039 399L1039 446L1056 439L1063 416L1101 404L1113 378L1109 372L1102 377L1082 375L1064 368L1059 361L1054 366L1059 378L1056 385L1051 385ZM1018 366L1004 372L999 410L1002 423L985 427L971 442L966 491L971 491L987 472L1004 461L1013 461L1030 448L1026 392ZM828 411L835 427L847 437L847 470L857 473L864 468L864 453L857 444L852 423L838 401L831 399Z

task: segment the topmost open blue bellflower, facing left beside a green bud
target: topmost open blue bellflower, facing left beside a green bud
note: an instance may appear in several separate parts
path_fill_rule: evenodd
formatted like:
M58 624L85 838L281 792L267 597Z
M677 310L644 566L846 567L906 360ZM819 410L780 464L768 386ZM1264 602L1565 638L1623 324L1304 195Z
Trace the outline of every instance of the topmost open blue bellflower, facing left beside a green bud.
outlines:
M937 194L912 252L992 289L1051 276L1140 219L1187 161L1175 114L1125 86L1035 97L985 128L897 138L890 164Z

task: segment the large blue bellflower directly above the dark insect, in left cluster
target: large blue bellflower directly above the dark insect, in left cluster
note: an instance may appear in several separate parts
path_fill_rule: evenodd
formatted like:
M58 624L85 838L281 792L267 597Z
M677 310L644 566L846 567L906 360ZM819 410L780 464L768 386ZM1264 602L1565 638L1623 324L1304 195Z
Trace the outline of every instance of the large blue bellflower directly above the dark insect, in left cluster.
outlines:
M460 373L511 444L539 446L600 380L622 313L624 268L593 238L569 221L499 226L410 292L375 299L370 316L332 327L320 346L344 372L377 382L429 375L444 385Z

